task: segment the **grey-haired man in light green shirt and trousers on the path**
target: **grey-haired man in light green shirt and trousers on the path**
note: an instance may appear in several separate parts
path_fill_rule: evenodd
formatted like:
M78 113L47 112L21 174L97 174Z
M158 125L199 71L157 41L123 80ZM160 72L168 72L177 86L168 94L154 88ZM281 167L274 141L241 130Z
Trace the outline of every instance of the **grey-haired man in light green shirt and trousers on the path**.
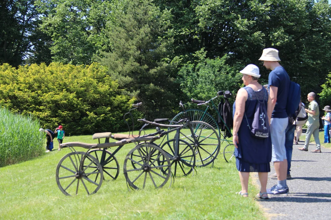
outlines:
M308 145L310 141L311 135L313 135L316 143L316 149L312 150L313 153L320 153L321 152L321 144L319 142L319 109L318 104L315 101L315 93L310 92L307 95L307 100L309 103L308 109L305 109L305 111L308 113L308 120L306 122L307 125L307 131L306 131L306 141L304 147L298 147L299 150L302 151L308 151Z

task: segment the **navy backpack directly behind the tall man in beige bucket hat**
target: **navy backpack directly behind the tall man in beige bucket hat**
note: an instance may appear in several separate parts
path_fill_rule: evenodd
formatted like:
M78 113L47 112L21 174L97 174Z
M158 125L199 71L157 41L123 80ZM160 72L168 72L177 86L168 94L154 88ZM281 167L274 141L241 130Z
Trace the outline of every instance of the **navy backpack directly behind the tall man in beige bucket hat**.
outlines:
M296 110L300 104L301 88L298 83L290 81L289 93L286 102L286 113L289 117L296 119Z

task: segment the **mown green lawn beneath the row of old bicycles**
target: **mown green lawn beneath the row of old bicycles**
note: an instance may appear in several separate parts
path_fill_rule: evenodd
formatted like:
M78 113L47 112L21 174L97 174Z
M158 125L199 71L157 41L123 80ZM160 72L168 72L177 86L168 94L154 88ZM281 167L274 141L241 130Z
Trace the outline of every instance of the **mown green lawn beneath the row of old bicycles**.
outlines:
M97 142L92 136L65 137L68 141ZM56 166L71 151L57 151L56 139L52 152L0 168L0 219L264 219L254 201L258 193L254 186L249 186L249 198L235 194L241 189L238 173L221 152L213 168L175 178L170 188L167 184L161 189L128 190L123 161L133 147L125 145L116 155L118 178L104 181L90 196L84 192L68 197L59 190Z

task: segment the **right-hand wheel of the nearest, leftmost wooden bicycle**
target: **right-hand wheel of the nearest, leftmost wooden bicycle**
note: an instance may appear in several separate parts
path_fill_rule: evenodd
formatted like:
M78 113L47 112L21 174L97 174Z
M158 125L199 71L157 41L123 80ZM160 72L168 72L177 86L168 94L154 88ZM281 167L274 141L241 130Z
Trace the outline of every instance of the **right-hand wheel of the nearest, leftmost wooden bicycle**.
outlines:
M139 155L141 162L132 159L131 154ZM132 166L131 162L136 168ZM167 172L161 172L161 169L166 169ZM126 155L123 173L127 183L133 189L161 188L171 175L171 164L168 156L160 147L142 143Z

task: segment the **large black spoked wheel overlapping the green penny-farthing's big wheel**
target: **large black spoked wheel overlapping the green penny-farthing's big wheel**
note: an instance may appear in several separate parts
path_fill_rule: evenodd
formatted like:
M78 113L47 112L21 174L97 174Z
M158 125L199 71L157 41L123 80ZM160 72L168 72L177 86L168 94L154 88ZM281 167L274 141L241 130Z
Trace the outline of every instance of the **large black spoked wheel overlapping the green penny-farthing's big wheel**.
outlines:
M179 138L193 146L197 167L209 165L219 153L221 143L218 132L206 122L191 121L190 126L184 126L180 130Z

